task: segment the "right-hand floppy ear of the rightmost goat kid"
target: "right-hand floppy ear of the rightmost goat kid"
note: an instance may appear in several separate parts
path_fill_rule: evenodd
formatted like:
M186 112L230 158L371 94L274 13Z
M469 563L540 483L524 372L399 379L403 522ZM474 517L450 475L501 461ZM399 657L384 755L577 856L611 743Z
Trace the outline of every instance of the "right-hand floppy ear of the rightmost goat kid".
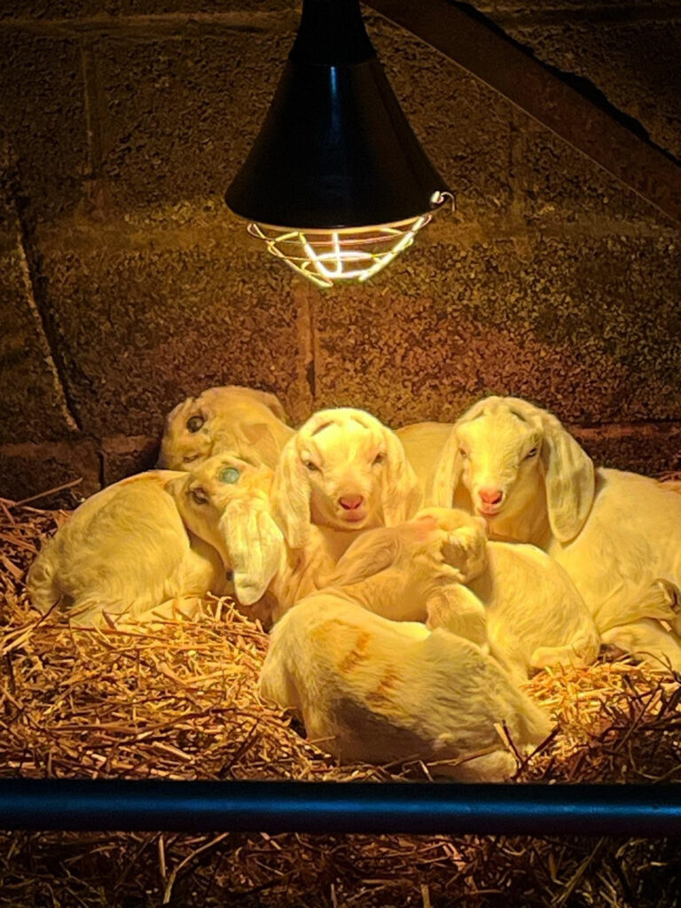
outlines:
M560 542L575 538L594 500L594 464L555 416L542 412L542 462L547 487L548 522Z

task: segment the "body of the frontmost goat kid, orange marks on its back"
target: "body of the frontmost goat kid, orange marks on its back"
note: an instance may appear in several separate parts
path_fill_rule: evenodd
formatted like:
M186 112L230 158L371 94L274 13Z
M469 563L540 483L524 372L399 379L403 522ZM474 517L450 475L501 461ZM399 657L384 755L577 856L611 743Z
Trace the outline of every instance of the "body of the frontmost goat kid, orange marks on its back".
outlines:
M331 590L304 598L271 632L261 696L301 713L308 737L343 761L436 760L465 782L513 775L519 750L550 731L548 717L479 646L395 622Z

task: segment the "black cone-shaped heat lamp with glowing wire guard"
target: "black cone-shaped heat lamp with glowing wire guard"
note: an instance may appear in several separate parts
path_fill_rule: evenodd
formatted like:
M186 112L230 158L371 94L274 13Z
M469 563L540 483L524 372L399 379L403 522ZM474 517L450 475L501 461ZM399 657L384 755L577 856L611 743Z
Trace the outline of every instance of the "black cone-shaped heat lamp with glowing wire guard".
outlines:
M268 252L320 287L366 281L452 196L411 130L359 0L303 0L291 54L225 194Z

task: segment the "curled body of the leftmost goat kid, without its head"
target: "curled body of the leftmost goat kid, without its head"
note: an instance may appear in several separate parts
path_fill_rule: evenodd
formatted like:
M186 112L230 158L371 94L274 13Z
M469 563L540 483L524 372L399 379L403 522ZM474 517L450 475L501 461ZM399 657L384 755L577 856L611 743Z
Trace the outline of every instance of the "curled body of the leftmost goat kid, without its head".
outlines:
M150 620L151 609L186 614L209 590L228 592L218 552L187 533L168 493L173 479L186 475L153 470L84 501L28 572L35 607L47 612L58 605L79 624L100 625Z

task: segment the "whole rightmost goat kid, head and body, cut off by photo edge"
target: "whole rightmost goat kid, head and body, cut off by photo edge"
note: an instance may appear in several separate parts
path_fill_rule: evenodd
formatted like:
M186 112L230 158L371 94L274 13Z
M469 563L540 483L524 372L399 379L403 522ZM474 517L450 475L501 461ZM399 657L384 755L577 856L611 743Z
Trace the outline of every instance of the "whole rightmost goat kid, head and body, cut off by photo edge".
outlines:
M429 503L485 518L492 538L544 548L568 571L604 642L681 670L681 495L617 469L594 469L558 419L490 397L458 420ZM625 629L626 628L626 629Z

